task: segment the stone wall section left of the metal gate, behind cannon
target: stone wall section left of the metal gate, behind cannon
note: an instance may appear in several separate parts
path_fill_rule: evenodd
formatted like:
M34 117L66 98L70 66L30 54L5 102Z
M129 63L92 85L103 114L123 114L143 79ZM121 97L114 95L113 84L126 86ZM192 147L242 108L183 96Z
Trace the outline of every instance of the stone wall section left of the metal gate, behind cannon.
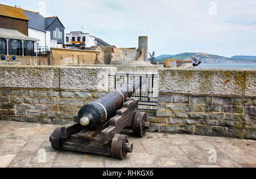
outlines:
M114 67L0 66L0 120L71 123L109 90ZM8 79L8 80L6 80Z

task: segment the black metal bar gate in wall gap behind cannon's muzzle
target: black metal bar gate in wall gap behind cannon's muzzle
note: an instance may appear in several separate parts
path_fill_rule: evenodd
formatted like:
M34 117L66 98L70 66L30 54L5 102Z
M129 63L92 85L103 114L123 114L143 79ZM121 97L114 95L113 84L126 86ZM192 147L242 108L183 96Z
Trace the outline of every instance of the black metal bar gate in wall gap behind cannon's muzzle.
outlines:
M139 89L133 94L133 98L139 99L138 109L156 110L158 97L157 77L156 74L110 74L109 90L114 90L131 80L138 80L140 82ZM142 84L142 81L146 82Z

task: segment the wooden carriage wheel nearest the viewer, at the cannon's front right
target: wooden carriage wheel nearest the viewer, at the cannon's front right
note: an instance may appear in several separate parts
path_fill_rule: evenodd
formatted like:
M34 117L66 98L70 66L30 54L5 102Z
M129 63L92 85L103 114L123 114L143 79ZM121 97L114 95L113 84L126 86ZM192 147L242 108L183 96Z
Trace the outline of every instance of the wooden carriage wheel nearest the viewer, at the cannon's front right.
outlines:
M127 135L115 134L111 144L112 156L117 159L125 159L127 152L133 151L133 144L129 143Z

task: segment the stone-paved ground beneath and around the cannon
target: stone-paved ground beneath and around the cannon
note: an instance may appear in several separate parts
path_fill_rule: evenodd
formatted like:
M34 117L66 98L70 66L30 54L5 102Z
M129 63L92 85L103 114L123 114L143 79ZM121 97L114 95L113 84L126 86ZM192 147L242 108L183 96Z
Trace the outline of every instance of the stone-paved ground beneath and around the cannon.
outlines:
M118 160L53 150L49 135L56 127L0 121L0 167L256 167L254 140L150 132L140 139L127 131L134 151ZM214 151L217 160L211 163Z

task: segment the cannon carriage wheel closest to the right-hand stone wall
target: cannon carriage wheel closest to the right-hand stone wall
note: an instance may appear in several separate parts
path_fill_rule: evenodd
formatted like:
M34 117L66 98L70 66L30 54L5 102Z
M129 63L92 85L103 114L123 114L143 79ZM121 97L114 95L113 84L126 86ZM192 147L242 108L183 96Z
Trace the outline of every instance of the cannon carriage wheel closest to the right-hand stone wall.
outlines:
M147 122L147 114L136 112L133 118L133 135L143 138L149 128L150 122Z

